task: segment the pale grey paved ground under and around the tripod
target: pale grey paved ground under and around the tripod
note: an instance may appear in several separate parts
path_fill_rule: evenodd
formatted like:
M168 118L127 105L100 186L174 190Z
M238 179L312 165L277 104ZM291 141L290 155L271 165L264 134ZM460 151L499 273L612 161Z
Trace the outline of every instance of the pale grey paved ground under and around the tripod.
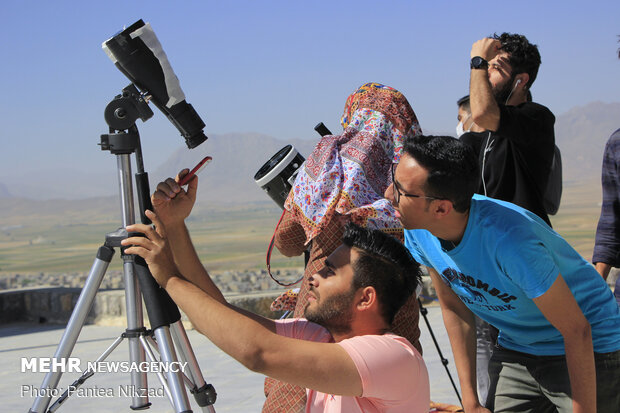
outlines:
M438 306L429 308L428 318L444 357L450 361L452 377L457 376L452 360L452 352L441 320ZM442 365L437 349L429 335L428 328L420 319L424 358L431 379L431 398L434 401L458 404L456 393L450 383L448 374ZM107 326L86 326L80 334L72 357L78 357L82 363L95 360L120 335L123 328ZM51 357L60 341L64 329L53 326L9 325L0 326L0 410L6 412L28 412L35 397L35 392L43 380L43 373L22 372L21 359L32 357ZM260 412L264 396L262 393L263 376L246 370L236 361L222 353L204 336L196 331L188 331L189 339L196 353L198 363L205 380L212 383L218 393L215 409L218 412ZM128 348L125 342L110 355L108 360L128 360ZM66 373L60 381L59 388L66 389L79 377L77 373ZM158 393L161 385L154 374L149 374L149 383L153 392ZM90 378L83 389L98 389L97 397L74 397L69 399L60 412L73 412L78 409L89 413L131 412L131 399L120 395L120 386L129 384L128 374L100 373ZM159 390L161 392L161 390ZM55 399L53 399L55 400ZM155 395L151 398L149 412L173 412L165 396ZM192 403L193 400L192 400ZM194 411L198 410L192 404Z

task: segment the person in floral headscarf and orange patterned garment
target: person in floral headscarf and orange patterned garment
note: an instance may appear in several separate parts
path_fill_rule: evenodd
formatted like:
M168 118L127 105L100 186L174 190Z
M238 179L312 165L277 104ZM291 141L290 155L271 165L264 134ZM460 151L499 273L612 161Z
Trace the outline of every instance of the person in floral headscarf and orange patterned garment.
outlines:
M405 139L422 134L405 96L389 86L366 83L349 96L341 119L342 135L324 136L300 168L284 205L275 245L286 256L309 249L310 256L295 305L303 317L308 278L342 243L344 226L352 221L380 229L403 240L402 224L383 194L392 182ZM419 351L419 308L415 295L397 313L391 331ZM303 411L305 389L270 378L263 413Z

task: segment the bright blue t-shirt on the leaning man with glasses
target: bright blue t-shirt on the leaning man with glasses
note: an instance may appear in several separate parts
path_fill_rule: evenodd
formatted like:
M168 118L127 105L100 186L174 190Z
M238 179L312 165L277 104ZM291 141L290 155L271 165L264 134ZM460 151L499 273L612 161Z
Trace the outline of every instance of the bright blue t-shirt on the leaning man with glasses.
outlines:
M562 335L532 301L562 274L591 325L594 351L620 349L620 310L603 278L523 208L474 195L456 248L447 251L426 230L405 231L405 245L473 313L499 329L503 347L534 355L565 354Z

